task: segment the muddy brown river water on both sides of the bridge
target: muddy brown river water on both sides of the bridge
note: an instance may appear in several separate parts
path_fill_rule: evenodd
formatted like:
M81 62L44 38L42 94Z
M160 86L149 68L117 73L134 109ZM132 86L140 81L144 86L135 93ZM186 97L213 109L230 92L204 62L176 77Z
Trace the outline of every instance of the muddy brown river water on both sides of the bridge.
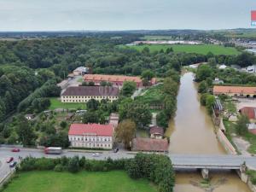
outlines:
M183 73L177 95L176 117L170 123L166 136L170 136L171 154L225 154L214 133L212 119L201 107L193 73ZM178 172L175 192L249 192L235 172L210 172L211 189L202 189L201 174Z

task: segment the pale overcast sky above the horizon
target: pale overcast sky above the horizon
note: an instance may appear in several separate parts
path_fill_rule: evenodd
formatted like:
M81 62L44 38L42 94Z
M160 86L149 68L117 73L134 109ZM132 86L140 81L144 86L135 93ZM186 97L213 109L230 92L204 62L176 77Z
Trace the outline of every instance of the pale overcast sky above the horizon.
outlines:
M250 28L256 0L0 0L0 31Z

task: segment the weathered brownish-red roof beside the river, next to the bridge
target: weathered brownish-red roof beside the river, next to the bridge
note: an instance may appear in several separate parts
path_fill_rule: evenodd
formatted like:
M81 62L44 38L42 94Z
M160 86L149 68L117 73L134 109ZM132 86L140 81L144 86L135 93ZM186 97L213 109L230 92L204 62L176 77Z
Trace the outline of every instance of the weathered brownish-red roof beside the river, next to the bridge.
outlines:
M133 151L168 151L167 139L134 138L132 140Z

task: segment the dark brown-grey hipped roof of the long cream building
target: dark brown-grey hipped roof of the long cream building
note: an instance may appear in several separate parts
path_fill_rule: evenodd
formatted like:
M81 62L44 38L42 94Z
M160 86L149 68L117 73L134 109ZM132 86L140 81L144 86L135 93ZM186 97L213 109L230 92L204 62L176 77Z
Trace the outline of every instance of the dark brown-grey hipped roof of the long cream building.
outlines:
M119 96L119 89L109 86L68 87L61 96Z

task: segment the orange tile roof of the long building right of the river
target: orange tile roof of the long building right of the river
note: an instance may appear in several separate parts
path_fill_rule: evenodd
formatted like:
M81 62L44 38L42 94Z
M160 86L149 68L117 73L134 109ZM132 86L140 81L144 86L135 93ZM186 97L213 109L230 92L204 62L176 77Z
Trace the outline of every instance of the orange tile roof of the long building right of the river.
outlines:
M239 87L239 86L214 86L213 87L214 94L255 94L256 95L256 87Z

